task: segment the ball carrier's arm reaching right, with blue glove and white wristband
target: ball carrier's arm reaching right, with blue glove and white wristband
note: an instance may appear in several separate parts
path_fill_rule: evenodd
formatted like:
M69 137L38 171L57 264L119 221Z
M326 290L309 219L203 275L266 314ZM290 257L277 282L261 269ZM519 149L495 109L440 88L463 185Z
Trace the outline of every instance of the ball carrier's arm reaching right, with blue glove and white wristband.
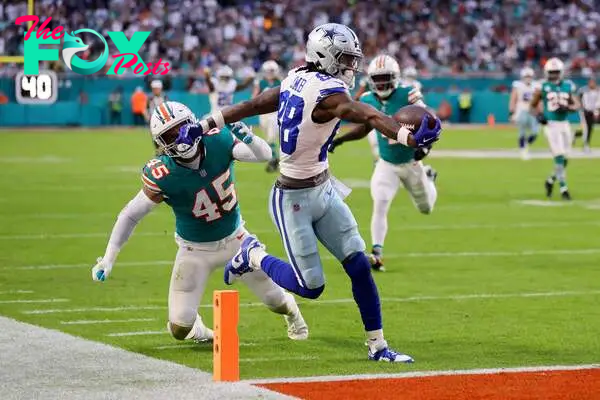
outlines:
M334 117L344 121L364 124L367 129L377 129L390 139L397 140L401 144L410 147L422 147L435 142L441 132L441 123L436 118L436 126L433 129L427 127L429 120L427 114L417 132L413 135L409 129L400 125L392 117L378 111L374 107L352 100L348 93L333 94L319 103L312 114L315 121L328 121Z

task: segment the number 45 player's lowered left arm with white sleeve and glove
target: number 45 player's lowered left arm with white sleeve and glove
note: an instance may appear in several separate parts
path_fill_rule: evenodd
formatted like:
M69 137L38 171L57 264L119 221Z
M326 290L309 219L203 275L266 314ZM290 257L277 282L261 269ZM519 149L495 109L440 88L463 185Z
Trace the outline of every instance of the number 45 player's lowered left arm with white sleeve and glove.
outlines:
M144 188L140 190L129 203L127 203L119 213L117 222L115 222L115 225L113 226L104 256L98 258L96 265L92 268L93 280L105 281L106 278L108 278L112 266L117 259L117 255L133 233L136 225L161 201L163 201L163 197L160 193L153 192L144 186Z

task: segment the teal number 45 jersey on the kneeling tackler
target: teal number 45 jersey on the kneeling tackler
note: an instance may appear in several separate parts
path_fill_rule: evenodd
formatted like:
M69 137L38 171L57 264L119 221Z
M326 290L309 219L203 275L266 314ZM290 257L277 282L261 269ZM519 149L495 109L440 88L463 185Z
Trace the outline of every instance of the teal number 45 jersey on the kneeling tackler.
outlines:
M177 235L196 243L221 240L242 223L233 184L233 135L223 129L202 143L205 158L198 169L161 155L142 170L144 185L162 193L173 210Z

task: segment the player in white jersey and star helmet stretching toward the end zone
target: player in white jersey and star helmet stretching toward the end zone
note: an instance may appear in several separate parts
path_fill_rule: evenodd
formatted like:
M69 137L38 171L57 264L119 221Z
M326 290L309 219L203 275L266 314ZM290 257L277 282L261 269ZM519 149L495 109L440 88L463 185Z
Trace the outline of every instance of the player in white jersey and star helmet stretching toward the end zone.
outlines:
M365 242L343 198L349 189L329 175L327 149L342 120L364 124L404 145L420 148L438 140L441 123L429 128L424 115L411 132L368 104L353 100L349 87L359 71L362 50L347 26L324 24L308 36L306 65L290 71L278 88L227 107L200 121L203 130L278 110L280 175L270 197L270 212L289 263L269 255L255 238L244 241L225 267L225 283L255 269L299 296L315 299L323 293L325 276L318 252L320 241L342 264L352 283L367 335L368 358L413 362L388 347L383 336L381 307ZM408 122L408 121L407 121Z

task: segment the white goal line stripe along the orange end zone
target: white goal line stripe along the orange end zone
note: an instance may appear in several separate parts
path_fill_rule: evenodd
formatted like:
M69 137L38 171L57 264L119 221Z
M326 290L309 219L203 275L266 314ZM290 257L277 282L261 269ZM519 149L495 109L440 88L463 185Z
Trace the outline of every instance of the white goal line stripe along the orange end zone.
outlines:
M428 376L452 376L452 375L489 375L489 374L511 374L523 372L549 372L549 371L580 371L600 368L600 364L582 365L549 365L539 367L514 367L514 368L482 368L463 369L450 371L418 371L399 372L396 374L360 374L360 375L331 375L331 376L308 376L299 378L274 378L274 379L249 379L245 383L252 385L265 383L293 383L293 382L330 382L349 381L361 379L389 379L389 378L419 378Z

